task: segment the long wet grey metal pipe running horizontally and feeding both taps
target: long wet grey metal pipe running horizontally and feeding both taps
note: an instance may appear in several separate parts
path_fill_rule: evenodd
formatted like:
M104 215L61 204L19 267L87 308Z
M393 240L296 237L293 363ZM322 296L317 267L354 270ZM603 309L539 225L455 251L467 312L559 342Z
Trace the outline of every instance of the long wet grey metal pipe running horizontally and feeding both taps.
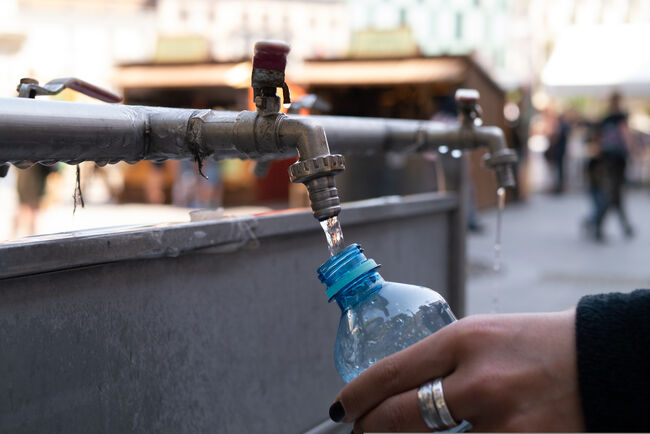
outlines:
M309 138L304 153L373 154L488 146L505 147L496 127L461 128L432 121L343 116L258 116L255 112L0 99L0 163L221 158L296 155L301 124L322 127L327 141ZM316 131L316 132L314 132Z

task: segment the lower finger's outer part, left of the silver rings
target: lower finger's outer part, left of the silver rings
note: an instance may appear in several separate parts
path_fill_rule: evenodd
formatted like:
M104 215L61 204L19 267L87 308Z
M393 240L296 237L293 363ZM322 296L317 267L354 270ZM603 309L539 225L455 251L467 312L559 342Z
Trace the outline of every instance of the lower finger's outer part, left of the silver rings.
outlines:
M355 422L355 434L431 431L420 414L417 399L416 389L388 398Z

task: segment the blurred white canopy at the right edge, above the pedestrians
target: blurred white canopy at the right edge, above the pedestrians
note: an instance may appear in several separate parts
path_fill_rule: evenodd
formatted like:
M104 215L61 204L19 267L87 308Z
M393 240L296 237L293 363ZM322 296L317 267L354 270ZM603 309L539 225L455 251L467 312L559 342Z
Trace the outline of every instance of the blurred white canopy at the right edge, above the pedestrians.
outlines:
M650 25L575 26L560 36L542 72L554 96L650 97Z

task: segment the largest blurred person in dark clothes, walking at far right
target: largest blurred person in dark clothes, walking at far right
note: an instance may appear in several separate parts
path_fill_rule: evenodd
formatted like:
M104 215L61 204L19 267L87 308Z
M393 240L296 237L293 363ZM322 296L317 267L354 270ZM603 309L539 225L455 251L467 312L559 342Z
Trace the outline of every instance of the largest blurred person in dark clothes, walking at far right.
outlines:
M616 211L626 237L634 235L623 203L625 168L633 138L627 124L627 114L621 108L621 96L614 93L609 100L609 112L597 125L596 155L588 163L590 192L594 213L589 224L597 241L602 241L603 221L607 212Z

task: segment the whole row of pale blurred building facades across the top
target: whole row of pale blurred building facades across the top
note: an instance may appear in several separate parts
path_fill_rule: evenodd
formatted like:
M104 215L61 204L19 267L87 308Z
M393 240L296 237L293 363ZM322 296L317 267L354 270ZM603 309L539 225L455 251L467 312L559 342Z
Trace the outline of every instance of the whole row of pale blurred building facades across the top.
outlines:
M0 95L17 78L111 83L114 65L236 62L260 39L292 62L467 55L504 87L539 85L576 25L650 23L647 0L2 0Z

